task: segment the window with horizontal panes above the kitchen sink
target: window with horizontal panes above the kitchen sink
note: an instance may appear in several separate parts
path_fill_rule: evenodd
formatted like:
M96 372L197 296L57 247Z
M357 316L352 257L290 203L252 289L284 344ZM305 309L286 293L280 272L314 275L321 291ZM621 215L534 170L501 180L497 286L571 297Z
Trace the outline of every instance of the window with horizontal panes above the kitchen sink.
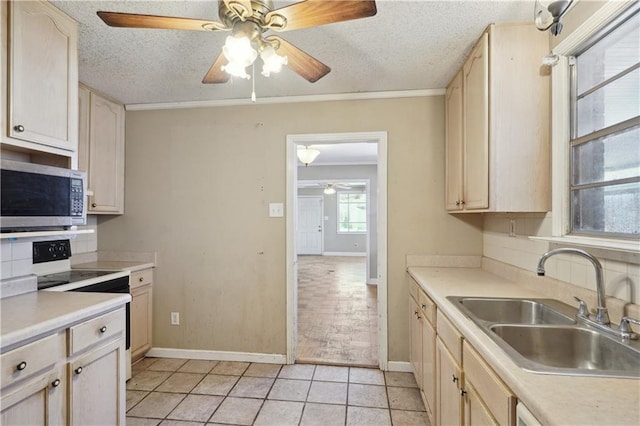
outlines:
M571 232L640 236L640 14L571 61Z

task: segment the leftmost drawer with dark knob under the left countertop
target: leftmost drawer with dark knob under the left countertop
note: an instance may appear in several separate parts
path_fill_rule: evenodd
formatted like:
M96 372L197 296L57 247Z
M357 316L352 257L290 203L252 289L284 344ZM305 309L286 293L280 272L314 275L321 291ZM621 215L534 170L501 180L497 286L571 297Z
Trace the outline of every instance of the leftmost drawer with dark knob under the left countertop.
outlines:
M65 357L64 332L47 336L0 356L2 388L51 368Z

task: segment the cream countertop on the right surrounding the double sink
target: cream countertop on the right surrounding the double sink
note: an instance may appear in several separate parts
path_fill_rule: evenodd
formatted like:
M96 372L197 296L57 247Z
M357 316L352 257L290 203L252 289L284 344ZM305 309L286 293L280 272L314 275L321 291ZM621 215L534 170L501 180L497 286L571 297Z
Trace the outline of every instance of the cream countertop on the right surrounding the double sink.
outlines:
M542 424L640 424L640 379L524 371L446 299L447 296L548 298L549 295L520 287L480 268L411 267L409 273Z

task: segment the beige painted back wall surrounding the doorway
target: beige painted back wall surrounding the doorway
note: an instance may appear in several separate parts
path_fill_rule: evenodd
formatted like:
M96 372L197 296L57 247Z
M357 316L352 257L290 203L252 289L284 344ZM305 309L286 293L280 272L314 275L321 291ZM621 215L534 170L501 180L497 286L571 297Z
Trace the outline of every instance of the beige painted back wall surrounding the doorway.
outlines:
M481 217L444 209L442 96L126 120L125 215L100 219L99 249L158 252L156 347L285 353L285 221L267 206L285 200L287 134L388 132L389 360L409 358L405 255L482 253Z

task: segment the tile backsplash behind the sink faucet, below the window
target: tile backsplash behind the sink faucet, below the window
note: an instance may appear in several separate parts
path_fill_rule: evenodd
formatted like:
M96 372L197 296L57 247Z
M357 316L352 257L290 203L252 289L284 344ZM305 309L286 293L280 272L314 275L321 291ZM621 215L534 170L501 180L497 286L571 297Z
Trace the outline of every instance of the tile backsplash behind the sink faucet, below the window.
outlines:
M509 236L511 220L515 220L515 237ZM550 245L545 241L530 240L529 236L543 235L551 235L551 214L486 215L483 254L503 263L535 271L540 256L550 249ZM587 248L586 251L590 250ZM607 295L640 304L640 265L600 256L598 258L604 269ZM545 268L547 276L551 278L592 291L596 288L593 266L580 256L553 256L546 262Z

